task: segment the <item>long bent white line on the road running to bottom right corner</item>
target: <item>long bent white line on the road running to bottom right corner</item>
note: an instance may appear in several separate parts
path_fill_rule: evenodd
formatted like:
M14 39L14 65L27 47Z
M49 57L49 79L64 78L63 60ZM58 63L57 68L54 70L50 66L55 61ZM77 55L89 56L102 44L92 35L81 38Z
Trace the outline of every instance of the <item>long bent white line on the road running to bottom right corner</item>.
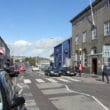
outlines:
M86 94L86 93L82 93L82 92L78 92L78 91L74 91L74 90L71 90L67 85L65 85L67 91L69 92L73 92L73 93L77 93L77 94L80 94L80 95L84 95L84 96L88 96L88 97L91 97L93 98L100 106L102 106L104 108L104 110L109 110L109 108L107 108L102 102L100 102L95 96L91 96L89 94Z

